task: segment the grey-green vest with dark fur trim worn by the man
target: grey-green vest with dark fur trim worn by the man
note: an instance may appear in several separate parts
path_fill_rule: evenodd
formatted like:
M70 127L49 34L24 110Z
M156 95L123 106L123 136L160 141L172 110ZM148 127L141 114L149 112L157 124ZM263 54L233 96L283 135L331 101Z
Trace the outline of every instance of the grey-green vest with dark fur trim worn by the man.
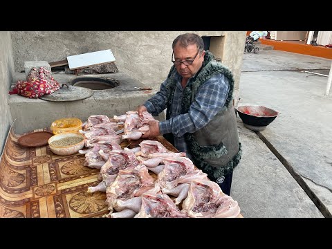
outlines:
M205 51L201 70L194 79L183 89L182 113L189 111L199 87L212 77L214 73L222 73L228 78L230 91L225 105L205 127L194 133L185 133L187 148L196 167L208 174L210 180L215 181L221 176L233 171L241 159L241 143L237 131L237 118L232 102L234 79L228 68L214 60L208 50ZM167 76L167 113L166 119L171 117L171 105L176 87L176 68L172 66Z

